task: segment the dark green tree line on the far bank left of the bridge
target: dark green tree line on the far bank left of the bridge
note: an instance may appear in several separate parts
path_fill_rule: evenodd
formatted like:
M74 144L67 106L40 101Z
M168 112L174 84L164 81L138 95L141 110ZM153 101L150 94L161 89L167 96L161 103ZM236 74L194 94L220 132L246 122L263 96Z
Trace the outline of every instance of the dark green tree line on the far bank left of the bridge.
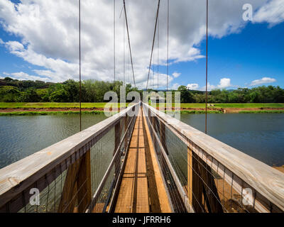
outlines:
M39 81L19 81L6 77L0 79L1 102L79 102L80 83L68 79L62 83ZM118 98L122 82L102 82L97 80L82 81L82 102L104 102L104 94L116 92ZM126 84L126 94L138 91ZM139 92L139 91L138 91ZM141 92L141 91L140 91Z

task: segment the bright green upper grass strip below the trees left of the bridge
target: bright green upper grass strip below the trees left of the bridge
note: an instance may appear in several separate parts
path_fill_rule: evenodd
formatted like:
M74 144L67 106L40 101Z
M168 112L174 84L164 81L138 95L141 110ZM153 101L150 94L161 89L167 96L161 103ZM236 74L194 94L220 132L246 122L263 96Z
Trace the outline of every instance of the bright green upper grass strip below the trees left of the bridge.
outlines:
M82 103L82 108L104 108L107 103ZM118 104L120 107L120 104ZM128 105L128 104L126 104ZM58 103L58 102L0 102L0 108L79 108L79 103ZM122 104L125 106L125 104Z

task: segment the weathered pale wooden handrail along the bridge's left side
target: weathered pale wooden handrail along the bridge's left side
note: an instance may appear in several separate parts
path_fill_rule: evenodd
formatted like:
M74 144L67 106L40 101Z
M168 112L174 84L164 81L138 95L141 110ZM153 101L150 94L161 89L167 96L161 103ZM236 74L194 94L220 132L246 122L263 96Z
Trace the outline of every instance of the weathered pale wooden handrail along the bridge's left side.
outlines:
M75 162L77 155L82 156L91 147L92 140L114 126L137 105L129 106L119 114L91 126L65 140L50 145L48 148L23 158L0 170L0 208L15 196L23 192L48 172L54 170L60 163L69 159ZM95 142L94 142L95 143ZM80 153L78 151L80 150ZM82 152L81 152L82 150ZM74 158L73 158L74 157ZM67 165L65 166L65 169Z

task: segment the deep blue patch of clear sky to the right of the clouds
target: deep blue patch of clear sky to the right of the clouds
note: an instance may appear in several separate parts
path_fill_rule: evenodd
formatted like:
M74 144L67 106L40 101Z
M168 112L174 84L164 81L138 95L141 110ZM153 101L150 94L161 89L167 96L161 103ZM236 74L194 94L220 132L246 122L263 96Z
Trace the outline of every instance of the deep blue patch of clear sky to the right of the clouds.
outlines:
M208 82L219 84L221 78L231 79L232 87L250 86L251 82L263 77L275 79L259 85L273 85L284 88L284 23L272 28L268 23L248 23L236 34L223 38L209 37L208 50ZM200 49L206 55L206 40L203 40ZM194 62L181 62L170 65L169 74L180 72L175 79L178 84L199 84L205 86L206 59ZM160 67L166 73L166 67Z

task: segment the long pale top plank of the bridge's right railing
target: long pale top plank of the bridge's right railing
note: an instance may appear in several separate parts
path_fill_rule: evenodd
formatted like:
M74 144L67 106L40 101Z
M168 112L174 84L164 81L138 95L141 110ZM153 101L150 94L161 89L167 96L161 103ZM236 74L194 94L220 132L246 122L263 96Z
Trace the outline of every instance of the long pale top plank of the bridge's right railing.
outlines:
M265 163L235 148L231 148L229 145L163 112L153 109L153 107L148 106L148 104L143 105L151 109L153 113L167 123L170 130L179 134L183 140L186 138L185 143L187 143L187 146L192 148L192 144L195 144L199 148L198 150L201 148L206 151L207 155L214 157L214 159L218 160L226 169L234 172L234 175L238 176L242 181L255 189L258 194L261 194L261 196L284 211L284 174L282 172L274 170ZM197 150L193 148L192 150L198 154ZM217 168L214 169L214 171L217 172Z

